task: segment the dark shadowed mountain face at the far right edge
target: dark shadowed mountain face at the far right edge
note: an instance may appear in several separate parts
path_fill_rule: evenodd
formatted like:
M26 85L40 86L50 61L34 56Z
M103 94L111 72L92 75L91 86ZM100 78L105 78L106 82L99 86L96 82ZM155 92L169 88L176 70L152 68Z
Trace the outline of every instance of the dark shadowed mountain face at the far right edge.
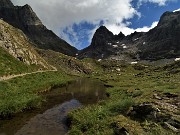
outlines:
M163 59L180 56L180 12L165 12L154 29L139 44L142 59Z

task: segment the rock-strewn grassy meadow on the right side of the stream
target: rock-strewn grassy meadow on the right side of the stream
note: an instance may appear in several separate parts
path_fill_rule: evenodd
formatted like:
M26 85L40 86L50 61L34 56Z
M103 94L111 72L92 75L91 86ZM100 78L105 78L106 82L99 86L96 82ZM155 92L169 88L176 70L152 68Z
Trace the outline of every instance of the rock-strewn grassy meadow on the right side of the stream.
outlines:
M176 134L171 129L165 128L164 122L171 118L180 122L180 112L167 107L167 104L169 106L177 104L179 99L171 97L168 99L165 95L180 96L180 72L178 72L180 62L165 67L147 67L103 61L101 66L105 67L104 72L96 72L92 77L104 81L107 86L112 86L107 88L110 97L97 105L70 112L68 118L71 130L68 134L122 134L120 129L123 128L133 135ZM117 68L121 71L117 71ZM162 99L159 100L154 95ZM136 115L131 113L132 109L143 103L152 105L151 110L160 109L160 112L155 111L156 117L149 114L149 118L142 113L139 114L140 118L136 118Z

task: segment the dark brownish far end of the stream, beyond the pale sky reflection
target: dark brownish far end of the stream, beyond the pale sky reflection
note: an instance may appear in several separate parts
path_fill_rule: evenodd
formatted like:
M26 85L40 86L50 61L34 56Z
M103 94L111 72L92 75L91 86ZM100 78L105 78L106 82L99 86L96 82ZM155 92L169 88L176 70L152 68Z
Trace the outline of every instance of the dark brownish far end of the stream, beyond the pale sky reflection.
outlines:
M78 79L66 86L62 93L69 93L72 96L71 98L77 99L84 104L88 104L104 98L105 87L100 82L84 78Z

